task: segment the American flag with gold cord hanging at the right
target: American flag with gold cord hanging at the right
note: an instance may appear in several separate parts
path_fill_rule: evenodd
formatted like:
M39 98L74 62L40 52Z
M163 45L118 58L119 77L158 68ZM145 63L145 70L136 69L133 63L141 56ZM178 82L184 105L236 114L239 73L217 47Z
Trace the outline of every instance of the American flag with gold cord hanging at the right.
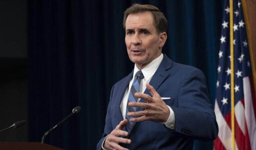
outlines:
M241 0L233 1L234 71L230 55L230 6L225 1L220 38L215 113L219 135L215 150L232 150L232 134L236 150L256 150L256 99L246 26ZM231 81L231 74L234 81ZM231 82L234 83L234 132L231 128Z

